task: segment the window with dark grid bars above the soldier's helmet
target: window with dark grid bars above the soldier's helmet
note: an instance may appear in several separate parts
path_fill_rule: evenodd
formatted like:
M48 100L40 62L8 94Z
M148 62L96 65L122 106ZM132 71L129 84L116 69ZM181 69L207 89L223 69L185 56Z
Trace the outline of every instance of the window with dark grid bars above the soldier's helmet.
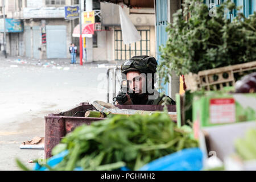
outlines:
M141 41L125 45L122 40L122 31L115 30L115 60L127 60L133 56L150 56L150 30L138 30Z

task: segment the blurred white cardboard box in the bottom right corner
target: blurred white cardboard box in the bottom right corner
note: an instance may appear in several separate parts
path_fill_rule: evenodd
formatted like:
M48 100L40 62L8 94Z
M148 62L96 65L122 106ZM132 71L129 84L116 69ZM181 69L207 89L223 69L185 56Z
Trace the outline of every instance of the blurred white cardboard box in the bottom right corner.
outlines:
M199 142L204 161L217 156L224 163L226 171L256 171L256 160L243 161L234 147L235 140L243 138L251 128L256 129L256 121L201 128Z

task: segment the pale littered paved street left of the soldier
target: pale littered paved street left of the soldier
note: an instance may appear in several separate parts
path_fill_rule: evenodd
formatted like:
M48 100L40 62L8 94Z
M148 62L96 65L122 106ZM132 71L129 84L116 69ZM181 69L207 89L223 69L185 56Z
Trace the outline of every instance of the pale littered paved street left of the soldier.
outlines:
M78 61L78 59L77 59ZM19 170L43 150L21 150L23 141L44 137L44 116L80 102L106 102L106 71L112 63L69 64L69 60L0 57L0 170Z

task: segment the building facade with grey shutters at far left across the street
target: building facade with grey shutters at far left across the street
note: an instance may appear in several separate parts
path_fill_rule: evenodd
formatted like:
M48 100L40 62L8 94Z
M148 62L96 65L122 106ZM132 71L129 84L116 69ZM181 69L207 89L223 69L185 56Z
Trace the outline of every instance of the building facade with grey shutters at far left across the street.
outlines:
M74 42L72 31L78 20L65 20L64 6L75 5L78 2L77 0L5 1L6 18L19 19L23 27L22 32L7 32L7 54L34 59L69 57L68 47ZM0 6L2 7L2 2Z

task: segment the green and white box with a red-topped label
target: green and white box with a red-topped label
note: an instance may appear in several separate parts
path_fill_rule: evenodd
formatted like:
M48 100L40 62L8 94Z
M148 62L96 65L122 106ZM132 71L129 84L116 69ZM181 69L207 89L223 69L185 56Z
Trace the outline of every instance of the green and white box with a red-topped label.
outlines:
M217 126L256 120L256 94L206 92L193 97L193 122L199 126Z

